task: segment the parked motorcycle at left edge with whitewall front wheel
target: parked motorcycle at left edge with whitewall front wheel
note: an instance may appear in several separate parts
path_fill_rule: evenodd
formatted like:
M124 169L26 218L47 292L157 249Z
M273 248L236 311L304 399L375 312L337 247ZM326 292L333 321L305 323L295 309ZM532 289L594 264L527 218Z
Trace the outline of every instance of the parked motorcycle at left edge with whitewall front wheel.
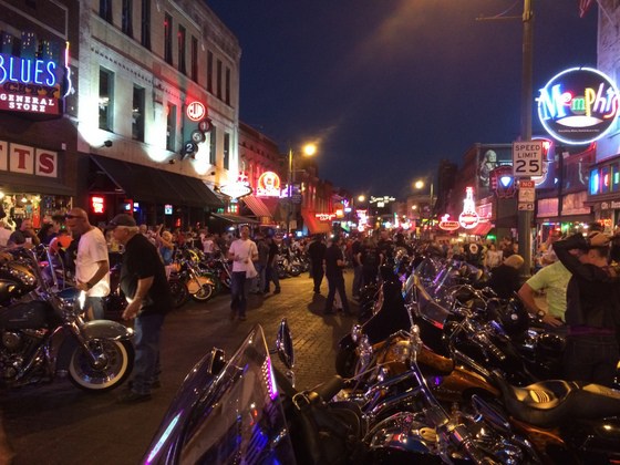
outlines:
M115 321L86 322L81 291L50 286L32 250L11 254L4 269L13 280L0 283L0 293L12 300L0 310L1 383L19 388L66 372L75 386L91 392L121 385L133 369L133 330Z

